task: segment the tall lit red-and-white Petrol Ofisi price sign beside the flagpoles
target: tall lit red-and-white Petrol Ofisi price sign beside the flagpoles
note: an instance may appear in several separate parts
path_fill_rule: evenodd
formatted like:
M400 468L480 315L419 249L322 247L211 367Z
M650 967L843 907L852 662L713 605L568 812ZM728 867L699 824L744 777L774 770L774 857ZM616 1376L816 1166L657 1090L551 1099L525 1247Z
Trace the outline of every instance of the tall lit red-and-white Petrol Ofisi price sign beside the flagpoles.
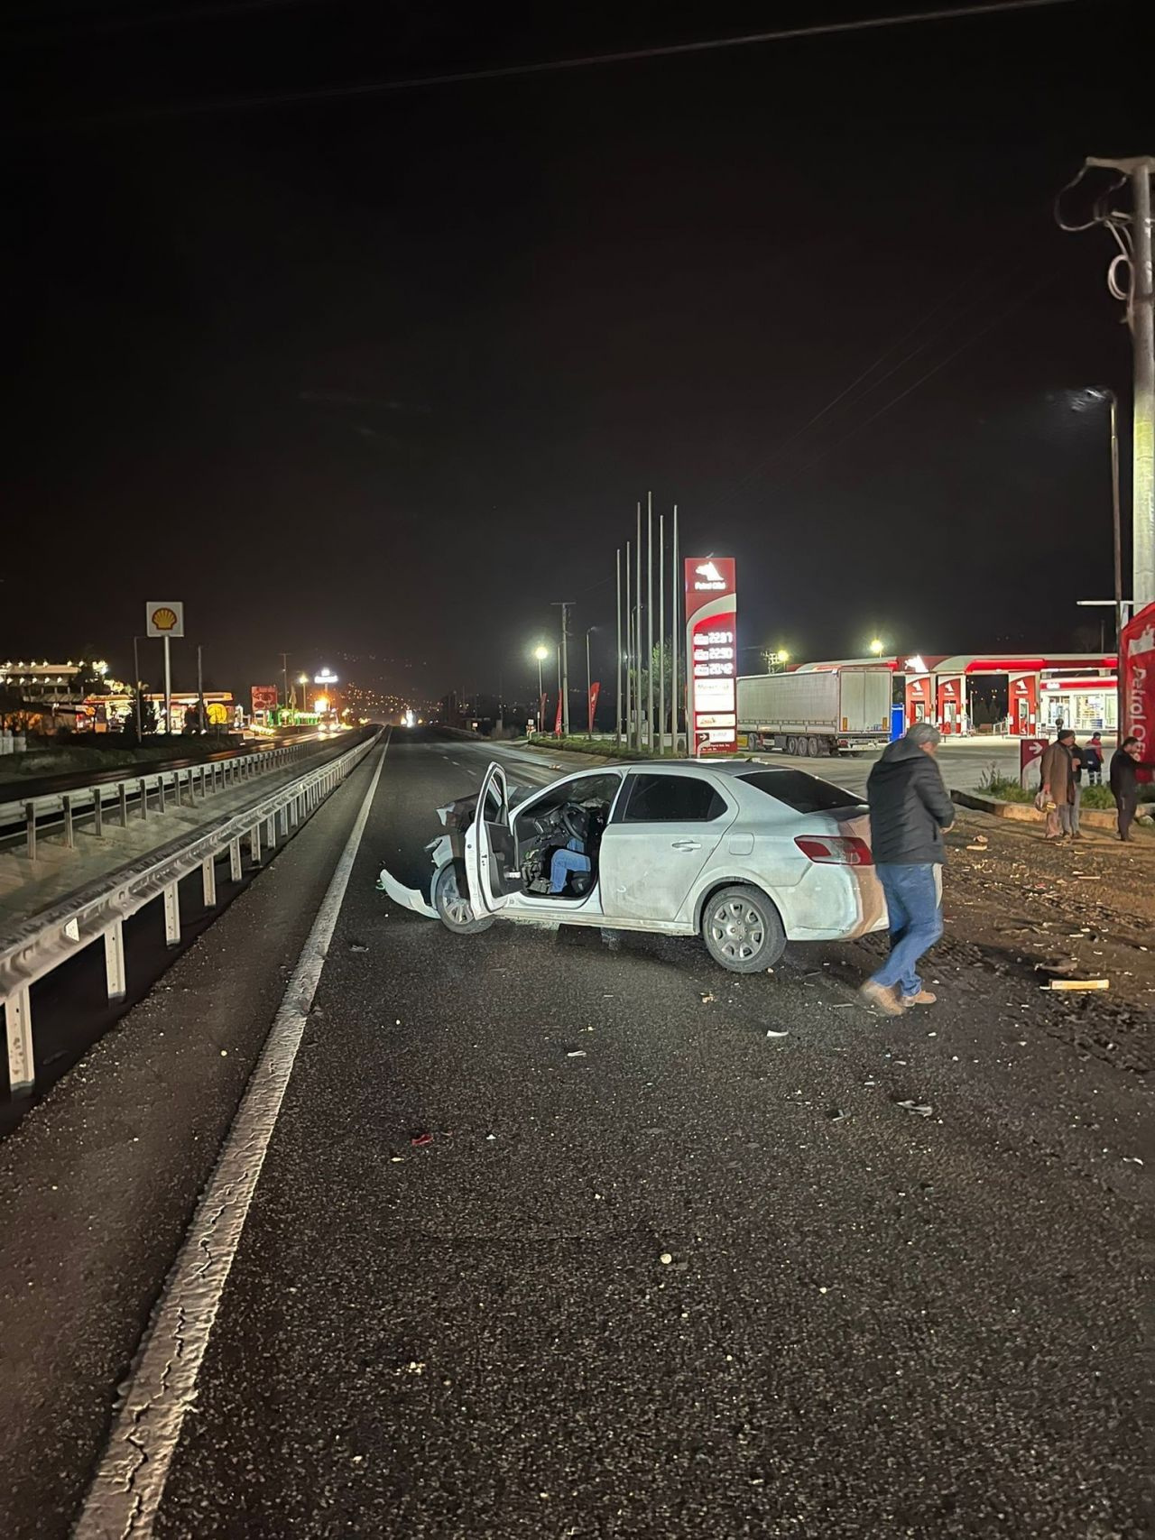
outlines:
M738 748L738 573L733 556L685 559L687 719L695 755Z

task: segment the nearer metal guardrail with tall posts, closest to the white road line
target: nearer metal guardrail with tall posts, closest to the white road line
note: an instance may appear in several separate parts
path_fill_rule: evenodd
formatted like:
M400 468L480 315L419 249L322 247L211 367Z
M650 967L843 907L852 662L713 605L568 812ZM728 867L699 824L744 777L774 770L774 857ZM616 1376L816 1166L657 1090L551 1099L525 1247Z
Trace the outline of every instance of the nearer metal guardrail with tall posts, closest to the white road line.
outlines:
M217 856L228 852L229 876L239 882L243 876L242 841L248 844L253 865L259 867L262 839L265 849L271 850L279 838L288 838L291 824L300 827L330 792L360 764L377 736L374 733L336 759L285 781L249 807L222 818L211 827L186 833L182 839L140 856L88 887L77 889L6 936L0 942L0 1004L5 1013L8 1080L12 1093L26 1093L35 1086L31 989L37 979L103 939L108 998L123 999L128 992L125 921L146 904L160 899L165 906L165 941L168 946L177 946L182 878L200 870L205 907L213 909L217 901Z

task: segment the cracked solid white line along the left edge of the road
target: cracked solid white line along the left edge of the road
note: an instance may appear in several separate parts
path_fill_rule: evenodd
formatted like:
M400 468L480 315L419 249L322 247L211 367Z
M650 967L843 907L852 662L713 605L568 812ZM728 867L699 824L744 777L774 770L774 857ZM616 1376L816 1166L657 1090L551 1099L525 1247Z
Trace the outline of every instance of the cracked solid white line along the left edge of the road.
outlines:
M139 1540L152 1534L185 1412L196 1398L197 1374L293 1073L293 1061L317 992L390 742L391 736L380 752L357 821L297 958L216 1169L165 1280L137 1354L132 1380L72 1531L74 1540Z

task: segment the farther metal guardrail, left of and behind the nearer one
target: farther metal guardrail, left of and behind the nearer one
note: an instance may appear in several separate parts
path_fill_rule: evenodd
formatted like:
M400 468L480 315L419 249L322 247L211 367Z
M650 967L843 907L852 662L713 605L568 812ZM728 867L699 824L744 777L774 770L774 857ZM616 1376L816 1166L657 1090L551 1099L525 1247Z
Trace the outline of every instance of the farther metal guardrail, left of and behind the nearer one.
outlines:
M157 765L126 775L123 770L102 770L88 781L80 781L63 790L37 792L35 782L28 792L6 787L8 796L0 801L0 839L11 841L23 827L25 853L35 861L37 835L48 829L63 829L65 845L75 845L75 821L91 818L92 833L103 838L105 815L112 812L120 824L128 822L129 812L148 818L151 812L163 813L169 796L189 805L197 796L203 801L217 790L237 785L266 770L282 770L306 752L317 753L319 744L308 741L286 744L282 748L260 748L248 755L220 755L205 761Z

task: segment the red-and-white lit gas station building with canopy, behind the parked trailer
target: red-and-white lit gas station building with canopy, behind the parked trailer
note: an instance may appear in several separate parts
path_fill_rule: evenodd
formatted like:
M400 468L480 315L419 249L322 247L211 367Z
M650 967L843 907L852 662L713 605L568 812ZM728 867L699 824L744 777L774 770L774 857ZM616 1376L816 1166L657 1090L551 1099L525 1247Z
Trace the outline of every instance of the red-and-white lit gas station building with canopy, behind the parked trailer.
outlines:
M1098 653L1050 653L1033 658L938 656L838 658L799 664L796 673L889 668L895 701L906 722L933 721L944 736L973 732L969 691L983 684L1007 688L1006 732L1012 738L1047 738L1061 722L1076 733L1113 733L1118 722L1116 658Z

